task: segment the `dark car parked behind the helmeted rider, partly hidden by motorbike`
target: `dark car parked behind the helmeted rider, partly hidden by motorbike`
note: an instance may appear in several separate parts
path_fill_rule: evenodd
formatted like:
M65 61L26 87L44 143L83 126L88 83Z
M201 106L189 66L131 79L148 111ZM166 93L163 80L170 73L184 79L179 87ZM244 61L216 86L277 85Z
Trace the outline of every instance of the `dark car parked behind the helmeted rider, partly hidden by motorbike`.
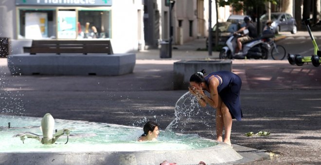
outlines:
M225 45L226 41L235 31L244 27L246 23L244 22L244 17L241 15L231 15L226 22L219 22L215 24L212 28L212 45L215 47L215 33L218 25L218 45ZM249 16L250 17L250 16ZM208 38L206 39L206 48L208 48Z

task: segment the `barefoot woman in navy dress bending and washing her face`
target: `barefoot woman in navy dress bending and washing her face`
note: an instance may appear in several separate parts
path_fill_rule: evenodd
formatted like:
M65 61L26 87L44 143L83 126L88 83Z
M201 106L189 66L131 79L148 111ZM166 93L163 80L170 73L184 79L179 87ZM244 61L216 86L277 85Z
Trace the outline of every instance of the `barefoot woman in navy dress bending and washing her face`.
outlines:
M223 142L224 127L224 142L231 145L232 119L240 121L243 117L240 104L242 81L239 76L229 71L218 71L204 76L205 73L203 69L191 76L189 91L196 96L202 107L209 104L216 109L217 141ZM210 97L206 96L203 90L209 92Z

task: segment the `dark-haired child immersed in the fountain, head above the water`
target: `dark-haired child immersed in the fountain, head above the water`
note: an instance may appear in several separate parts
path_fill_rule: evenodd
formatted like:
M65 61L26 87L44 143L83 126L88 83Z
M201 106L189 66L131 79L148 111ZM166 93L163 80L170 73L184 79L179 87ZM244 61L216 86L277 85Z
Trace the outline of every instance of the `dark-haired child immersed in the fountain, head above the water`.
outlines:
M138 141L155 141L160 131L158 125L153 121L147 121L143 127L144 133L138 138Z

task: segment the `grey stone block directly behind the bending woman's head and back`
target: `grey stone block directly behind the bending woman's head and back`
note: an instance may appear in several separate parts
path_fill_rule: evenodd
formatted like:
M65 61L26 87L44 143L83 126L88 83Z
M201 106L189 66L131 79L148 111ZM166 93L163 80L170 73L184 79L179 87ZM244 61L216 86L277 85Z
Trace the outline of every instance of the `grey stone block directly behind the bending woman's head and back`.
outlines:
M232 71L231 60L181 60L174 63L174 89L188 90L192 74L205 69L207 74L215 71Z

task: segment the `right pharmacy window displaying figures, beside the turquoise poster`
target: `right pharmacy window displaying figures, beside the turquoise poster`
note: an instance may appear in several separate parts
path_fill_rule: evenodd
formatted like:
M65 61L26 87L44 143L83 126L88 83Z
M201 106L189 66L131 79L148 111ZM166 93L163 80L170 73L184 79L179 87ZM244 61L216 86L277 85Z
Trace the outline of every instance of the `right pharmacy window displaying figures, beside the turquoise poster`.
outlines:
M78 38L111 38L110 12L78 11Z

